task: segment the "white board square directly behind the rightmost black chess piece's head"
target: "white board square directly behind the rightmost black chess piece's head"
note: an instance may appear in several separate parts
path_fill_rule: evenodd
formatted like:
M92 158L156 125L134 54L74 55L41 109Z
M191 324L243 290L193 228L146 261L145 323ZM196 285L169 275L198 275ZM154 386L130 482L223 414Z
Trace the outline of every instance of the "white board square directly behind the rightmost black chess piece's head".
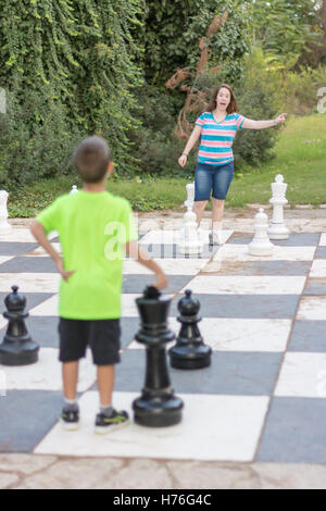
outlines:
M199 275L184 288L212 295L300 295L305 277Z

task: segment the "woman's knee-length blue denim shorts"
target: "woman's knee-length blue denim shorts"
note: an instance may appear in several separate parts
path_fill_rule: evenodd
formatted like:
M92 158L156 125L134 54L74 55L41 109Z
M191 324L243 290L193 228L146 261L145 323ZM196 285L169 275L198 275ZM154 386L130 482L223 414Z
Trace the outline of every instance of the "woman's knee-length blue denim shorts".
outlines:
M195 172L195 200L210 200L211 190L214 199L225 200L234 177L234 163L210 165L197 163Z

